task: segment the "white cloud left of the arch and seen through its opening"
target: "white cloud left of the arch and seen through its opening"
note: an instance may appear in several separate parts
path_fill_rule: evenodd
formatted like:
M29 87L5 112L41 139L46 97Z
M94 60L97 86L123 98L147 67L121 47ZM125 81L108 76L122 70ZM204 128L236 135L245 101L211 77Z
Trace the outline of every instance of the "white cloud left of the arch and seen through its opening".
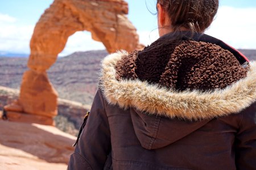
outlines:
M17 20L0 13L0 52L30 53L30 39L35 25L19 25ZM70 36L63 52L67 56L73 52L105 49L102 42L93 41L90 32L76 32Z

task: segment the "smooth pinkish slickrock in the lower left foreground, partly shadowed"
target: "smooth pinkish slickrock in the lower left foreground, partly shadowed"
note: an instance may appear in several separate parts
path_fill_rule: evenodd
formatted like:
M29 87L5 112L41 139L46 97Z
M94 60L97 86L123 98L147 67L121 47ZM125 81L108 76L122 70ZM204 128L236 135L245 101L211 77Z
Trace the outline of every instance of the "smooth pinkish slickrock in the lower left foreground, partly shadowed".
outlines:
M0 120L0 169L66 169L75 139L52 126Z

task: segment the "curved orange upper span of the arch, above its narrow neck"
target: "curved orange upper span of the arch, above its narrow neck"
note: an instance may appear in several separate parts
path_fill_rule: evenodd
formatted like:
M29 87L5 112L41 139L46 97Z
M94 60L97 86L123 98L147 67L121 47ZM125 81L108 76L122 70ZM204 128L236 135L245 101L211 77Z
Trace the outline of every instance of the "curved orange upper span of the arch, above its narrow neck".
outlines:
M126 14L128 5L123 0L55 0L36 24L28 67L49 69L77 31L91 32L92 39L101 41L109 53L136 49L139 37Z

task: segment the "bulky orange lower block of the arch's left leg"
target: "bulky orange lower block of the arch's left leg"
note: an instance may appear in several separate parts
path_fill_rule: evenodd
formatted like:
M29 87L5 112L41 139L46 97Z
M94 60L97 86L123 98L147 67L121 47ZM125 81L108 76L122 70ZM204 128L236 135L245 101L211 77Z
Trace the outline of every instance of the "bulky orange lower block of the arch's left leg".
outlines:
M25 113L47 117L57 115L57 92L49 82L47 73L34 70L24 73L19 104Z

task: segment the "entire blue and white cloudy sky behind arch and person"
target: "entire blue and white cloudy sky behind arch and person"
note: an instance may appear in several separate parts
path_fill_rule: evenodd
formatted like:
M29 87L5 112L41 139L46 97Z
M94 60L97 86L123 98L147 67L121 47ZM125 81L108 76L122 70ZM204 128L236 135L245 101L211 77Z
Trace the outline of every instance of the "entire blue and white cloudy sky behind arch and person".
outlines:
M29 41L34 26L52 2L53 0L0 0L0 51L29 53ZM156 12L155 0L127 2L128 18L137 28L140 41L150 44L158 38L158 31L155 29L156 15L148 11L149 9ZM255 0L220 0L216 20L206 33L226 41L235 48L256 49L255 16ZM101 42L90 39L89 32L77 32L69 37L63 55L75 50L90 49L104 49L104 46Z

